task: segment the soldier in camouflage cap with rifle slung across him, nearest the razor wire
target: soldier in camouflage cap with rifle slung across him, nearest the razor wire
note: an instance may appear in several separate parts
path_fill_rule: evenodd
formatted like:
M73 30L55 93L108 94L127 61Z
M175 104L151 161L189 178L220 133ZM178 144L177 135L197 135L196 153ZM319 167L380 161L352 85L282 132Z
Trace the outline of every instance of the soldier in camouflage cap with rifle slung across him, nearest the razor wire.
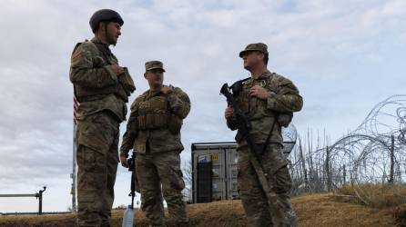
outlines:
M244 60L244 68L251 76L241 81L242 88L236 102L249 118L254 143L265 147L262 153L259 153L259 163L266 173L271 190L277 194L279 202L277 207L273 208L283 211L284 216L279 217L270 212L267 197L249 161L249 146L238 132L236 141L239 153L239 196L249 226L294 226L296 215L289 198L291 180L287 168L288 160L282 155L281 126L287 126L292 113L301 109L302 98L289 79L269 72L266 44L249 44L239 56ZM228 128L236 130L237 123L233 113L234 110L228 106L225 111ZM276 122L269 137L274 121Z

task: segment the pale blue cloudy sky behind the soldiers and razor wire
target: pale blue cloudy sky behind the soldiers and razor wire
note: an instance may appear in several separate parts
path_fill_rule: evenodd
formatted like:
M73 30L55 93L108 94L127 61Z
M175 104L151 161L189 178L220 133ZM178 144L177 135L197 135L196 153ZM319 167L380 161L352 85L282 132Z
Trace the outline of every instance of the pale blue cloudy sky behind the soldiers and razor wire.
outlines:
M334 142L375 104L406 92L403 0L4 0L0 193L34 193L46 185L45 212L71 206L70 54L93 37L88 20L101 8L116 10L125 21L111 49L137 85L130 103L147 90L149 60L162 61L165 83L188 93L183 163L191 143L233 141L219 88L249 76L239 51L250 43L268 44L269 70L299 88L304 106L293 123L300 134L325 131ZM130 202L129 180L119 166L115 207ZM36 211L36 198L0 198L0 212Z

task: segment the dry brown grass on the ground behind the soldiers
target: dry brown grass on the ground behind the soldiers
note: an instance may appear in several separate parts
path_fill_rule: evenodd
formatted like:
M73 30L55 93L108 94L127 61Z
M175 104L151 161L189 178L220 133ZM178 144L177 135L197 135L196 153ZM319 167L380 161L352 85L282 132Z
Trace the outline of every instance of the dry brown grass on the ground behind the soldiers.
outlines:
M292 200L298 213L299 226L394 226L392 209L375 209L348 202L337 202L332 194L311 194ZM402 210L403 212L405 210ZM247 221L240 201L211 202L188 205L190 226L234 227L246 226ZM113 212L113 226L121 226L123 211ZM401 214L401 210L399 212ZM74 226L75 216L6 216L0 226ZM175 226L167 222L168 227ZM137 211L136 226L147 226L143 212Z

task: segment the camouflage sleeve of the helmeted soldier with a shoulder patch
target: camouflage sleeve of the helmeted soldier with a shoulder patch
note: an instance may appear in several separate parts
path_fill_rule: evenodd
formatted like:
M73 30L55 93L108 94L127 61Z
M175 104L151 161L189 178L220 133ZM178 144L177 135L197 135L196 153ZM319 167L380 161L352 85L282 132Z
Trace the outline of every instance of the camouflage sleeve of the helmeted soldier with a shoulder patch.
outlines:
M73 84L101 88L118 83L117 74L95 54L95 48L80 44L72 54L69 77Z

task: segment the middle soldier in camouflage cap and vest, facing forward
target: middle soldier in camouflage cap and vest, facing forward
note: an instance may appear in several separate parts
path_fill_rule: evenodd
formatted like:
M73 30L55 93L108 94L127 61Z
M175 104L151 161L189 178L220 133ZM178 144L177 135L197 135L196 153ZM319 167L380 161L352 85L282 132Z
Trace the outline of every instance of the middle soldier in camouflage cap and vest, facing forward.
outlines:
M163 84L165 69L159 61L145 64L149 90L131 105L127 132L120 147L120 160L128 167L128 151L137 152L136 173L141 191L141 208L152 226L166 226L163 197L169 218L177 226L188 224L181 191L185 188L179 153L182 121L190 111L188 94L180 88Z

